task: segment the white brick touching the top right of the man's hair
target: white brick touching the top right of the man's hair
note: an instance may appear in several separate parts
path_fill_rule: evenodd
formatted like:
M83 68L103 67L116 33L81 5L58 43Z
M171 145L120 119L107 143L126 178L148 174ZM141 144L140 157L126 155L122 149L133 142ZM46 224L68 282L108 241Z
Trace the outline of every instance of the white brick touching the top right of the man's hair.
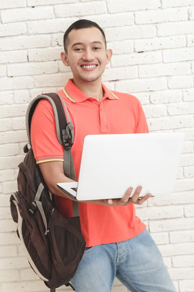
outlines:
M97 22L101 28L127 26L134 24L134 15L133 13L129 12L88 16L87 19Z

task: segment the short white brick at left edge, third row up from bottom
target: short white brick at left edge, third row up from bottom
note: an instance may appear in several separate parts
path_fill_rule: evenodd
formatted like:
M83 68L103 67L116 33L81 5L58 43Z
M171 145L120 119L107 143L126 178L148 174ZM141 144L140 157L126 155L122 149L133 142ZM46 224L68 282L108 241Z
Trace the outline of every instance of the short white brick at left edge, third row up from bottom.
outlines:
M29 267L27 257L0 258L0 270L10 270Z

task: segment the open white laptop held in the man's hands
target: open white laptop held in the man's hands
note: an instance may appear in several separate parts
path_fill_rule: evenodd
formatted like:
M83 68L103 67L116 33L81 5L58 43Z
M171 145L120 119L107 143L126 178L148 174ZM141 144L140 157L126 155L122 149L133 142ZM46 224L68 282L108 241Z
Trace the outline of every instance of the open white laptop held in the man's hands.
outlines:
M184 133L88 135L79 181L57 183L79 201L122 198L138 185L140 196L173 192Z

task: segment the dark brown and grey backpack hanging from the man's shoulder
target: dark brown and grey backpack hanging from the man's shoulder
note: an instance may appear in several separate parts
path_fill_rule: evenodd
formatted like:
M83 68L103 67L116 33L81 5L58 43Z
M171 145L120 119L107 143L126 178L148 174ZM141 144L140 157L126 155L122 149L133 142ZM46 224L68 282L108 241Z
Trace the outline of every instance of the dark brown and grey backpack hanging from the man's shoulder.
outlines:
M30 103L26 113L29 144L31 145L32 115L42 99L47 99L54 111L57 138L64 146L64 173L75 180L71 152L74 141L73 125L65 101L58 94L39 95ZM76 273L85 251L78 202L73 201L73 217L65 219L55 207L32 148L25 145L24 152L27 153L24 161L18 165L18 191L10 197L12 218L17 223L17 236L32 269L51 292L55 292L55 288L62 285L73 288L69 281Z

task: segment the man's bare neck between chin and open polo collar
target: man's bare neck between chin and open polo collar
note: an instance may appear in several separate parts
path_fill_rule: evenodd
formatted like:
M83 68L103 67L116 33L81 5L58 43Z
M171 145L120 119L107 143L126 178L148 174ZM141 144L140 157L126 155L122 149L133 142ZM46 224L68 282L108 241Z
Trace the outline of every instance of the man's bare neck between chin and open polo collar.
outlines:
M97 99L100 103L104 96L102 89L101 78L93 82L86 82L76 77L73 78L73 83L77 86L85 95Z

